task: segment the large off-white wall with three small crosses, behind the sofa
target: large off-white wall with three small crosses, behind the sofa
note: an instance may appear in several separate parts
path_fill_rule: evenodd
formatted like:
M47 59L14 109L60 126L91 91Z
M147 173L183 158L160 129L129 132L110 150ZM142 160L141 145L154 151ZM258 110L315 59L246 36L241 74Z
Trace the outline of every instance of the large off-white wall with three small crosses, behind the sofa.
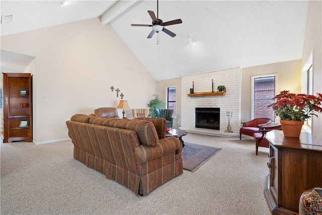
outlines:
M68 138L65 122L75 113L116 107L121 98L111 86L120 89L131 108L147 108L155 94L155 80L99 18L3 36L1 49L35 56L36 144ZM126 115L131 118L131 110Z

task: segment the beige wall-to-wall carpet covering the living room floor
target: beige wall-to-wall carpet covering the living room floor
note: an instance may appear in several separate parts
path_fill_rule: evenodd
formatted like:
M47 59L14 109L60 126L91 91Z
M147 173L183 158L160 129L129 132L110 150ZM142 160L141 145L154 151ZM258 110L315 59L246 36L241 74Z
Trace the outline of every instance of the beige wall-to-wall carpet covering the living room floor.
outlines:
M74 160L71 141L1 144L1 214L270 214L267 148L256 156L248 136L183 139L221 151L143 197Z

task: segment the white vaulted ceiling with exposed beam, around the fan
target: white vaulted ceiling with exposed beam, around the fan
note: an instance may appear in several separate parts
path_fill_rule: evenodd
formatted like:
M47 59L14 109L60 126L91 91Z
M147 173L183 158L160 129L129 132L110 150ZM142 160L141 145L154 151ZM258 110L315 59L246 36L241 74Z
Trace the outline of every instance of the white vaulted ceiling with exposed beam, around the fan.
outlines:
M156 1L70 1L66 6L59 2L1 0L1 15L14 15L13 22L1 24L1 35L105 14L102 23L109 21L156 81L302 57L308 1L162 0L158 18L183 23L166 27L176 37L160 32L151 39L146 38L151 27L130 25L151 24L147 11L156 14ZM134 5L119 10L123 3Z

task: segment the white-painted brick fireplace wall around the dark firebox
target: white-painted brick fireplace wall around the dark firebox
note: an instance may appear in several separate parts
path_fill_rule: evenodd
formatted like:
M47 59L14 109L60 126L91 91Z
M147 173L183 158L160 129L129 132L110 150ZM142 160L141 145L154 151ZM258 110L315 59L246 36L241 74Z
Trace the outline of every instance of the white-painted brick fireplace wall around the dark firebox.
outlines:
M219 85L226 87L226 94L223 96L201 96L189 97L194 82L194 92L211 92L211 81L213 80L214 91ZM218 108L219 122L215 129L207 126L196 126L196 108ZM226 111L232 111L230 126L232 133L227 130L228 119ZM207 119L203 119L207 121ZM197 124L199 124L197 122ZM181 79L181 127L186 131L205 133L219 136L239 136L240 127L240 67L208 71L205 73L183 76Z

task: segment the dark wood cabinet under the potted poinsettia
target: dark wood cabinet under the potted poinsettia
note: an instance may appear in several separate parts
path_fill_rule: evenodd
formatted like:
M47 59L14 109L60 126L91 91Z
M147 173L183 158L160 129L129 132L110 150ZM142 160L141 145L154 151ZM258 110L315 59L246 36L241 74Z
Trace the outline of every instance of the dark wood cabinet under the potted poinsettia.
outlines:
M301 194L322 187L322 141L301 132L299 138L283 131L266 134L270 142L269 167L264 195L272 214L298 214Z

